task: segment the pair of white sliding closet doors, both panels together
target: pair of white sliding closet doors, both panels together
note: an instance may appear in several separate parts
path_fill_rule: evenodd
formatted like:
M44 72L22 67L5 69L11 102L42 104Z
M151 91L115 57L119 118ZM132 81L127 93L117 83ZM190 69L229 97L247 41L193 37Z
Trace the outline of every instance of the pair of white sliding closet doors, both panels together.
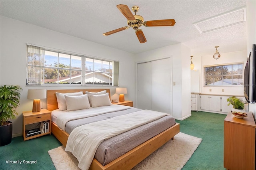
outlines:
M171 114L170 58L138 64L139 109Z

